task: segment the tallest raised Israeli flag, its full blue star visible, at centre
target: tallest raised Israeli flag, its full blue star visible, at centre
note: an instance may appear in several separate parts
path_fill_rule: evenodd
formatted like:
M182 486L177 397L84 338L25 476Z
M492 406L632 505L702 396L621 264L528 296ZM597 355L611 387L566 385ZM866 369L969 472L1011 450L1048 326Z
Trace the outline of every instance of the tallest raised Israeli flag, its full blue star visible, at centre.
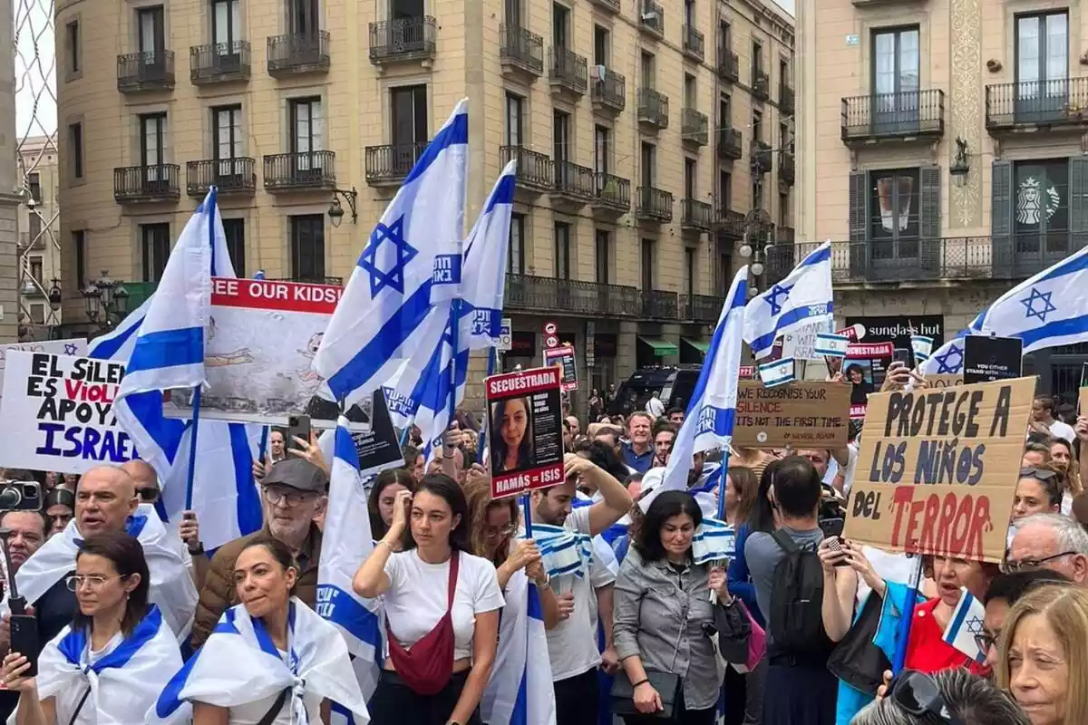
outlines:
M420 347L432 307L455 297L468 141L463 99L371 233L313 359L335 400L381 387Z

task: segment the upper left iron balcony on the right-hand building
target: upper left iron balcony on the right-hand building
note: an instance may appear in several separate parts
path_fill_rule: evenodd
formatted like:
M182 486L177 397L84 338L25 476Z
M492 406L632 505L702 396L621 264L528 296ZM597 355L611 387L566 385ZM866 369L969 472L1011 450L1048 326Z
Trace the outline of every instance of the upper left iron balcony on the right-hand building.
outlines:
M944 91L910 90L842 99L846 146L926 140L944 135Z

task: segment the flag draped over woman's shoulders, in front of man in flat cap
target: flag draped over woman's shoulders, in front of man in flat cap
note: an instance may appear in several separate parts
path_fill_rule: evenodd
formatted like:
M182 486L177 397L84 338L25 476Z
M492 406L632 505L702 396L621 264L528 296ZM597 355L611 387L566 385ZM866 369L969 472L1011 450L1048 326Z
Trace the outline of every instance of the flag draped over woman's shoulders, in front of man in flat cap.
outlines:
M245 605L226 610L208 641L162 690L146 722L187 723L193 702L231 709L267 700L271 707L285 689L293 725L319 725L325 699L350 711L359 725L370 720L344 638L294 597L287 649L285 661L264 623L250 617Z

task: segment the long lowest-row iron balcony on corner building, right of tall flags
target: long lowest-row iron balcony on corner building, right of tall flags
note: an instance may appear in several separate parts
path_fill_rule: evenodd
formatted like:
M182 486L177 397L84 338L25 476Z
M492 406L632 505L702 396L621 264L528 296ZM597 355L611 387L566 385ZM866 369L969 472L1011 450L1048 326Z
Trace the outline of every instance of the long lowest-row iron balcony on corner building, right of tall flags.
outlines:
M504 302L507 310L592 317L635 317L642 311L634 287L526 274L506 275Z

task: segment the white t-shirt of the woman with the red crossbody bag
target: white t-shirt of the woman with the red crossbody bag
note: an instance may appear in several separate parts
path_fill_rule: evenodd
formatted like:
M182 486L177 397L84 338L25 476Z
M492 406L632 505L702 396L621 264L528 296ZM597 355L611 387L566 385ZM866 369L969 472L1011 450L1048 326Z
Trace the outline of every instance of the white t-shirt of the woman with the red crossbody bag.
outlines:
M495 565L482 557L460 552L454 591L454 660L472 657L475 615L503 609ZM434 629L449 600L449 561L428 564L418 549L392 554L385 562L390 588L384 595L390 630L403 647L410 647ZM388 646L386 646L386 655Z

